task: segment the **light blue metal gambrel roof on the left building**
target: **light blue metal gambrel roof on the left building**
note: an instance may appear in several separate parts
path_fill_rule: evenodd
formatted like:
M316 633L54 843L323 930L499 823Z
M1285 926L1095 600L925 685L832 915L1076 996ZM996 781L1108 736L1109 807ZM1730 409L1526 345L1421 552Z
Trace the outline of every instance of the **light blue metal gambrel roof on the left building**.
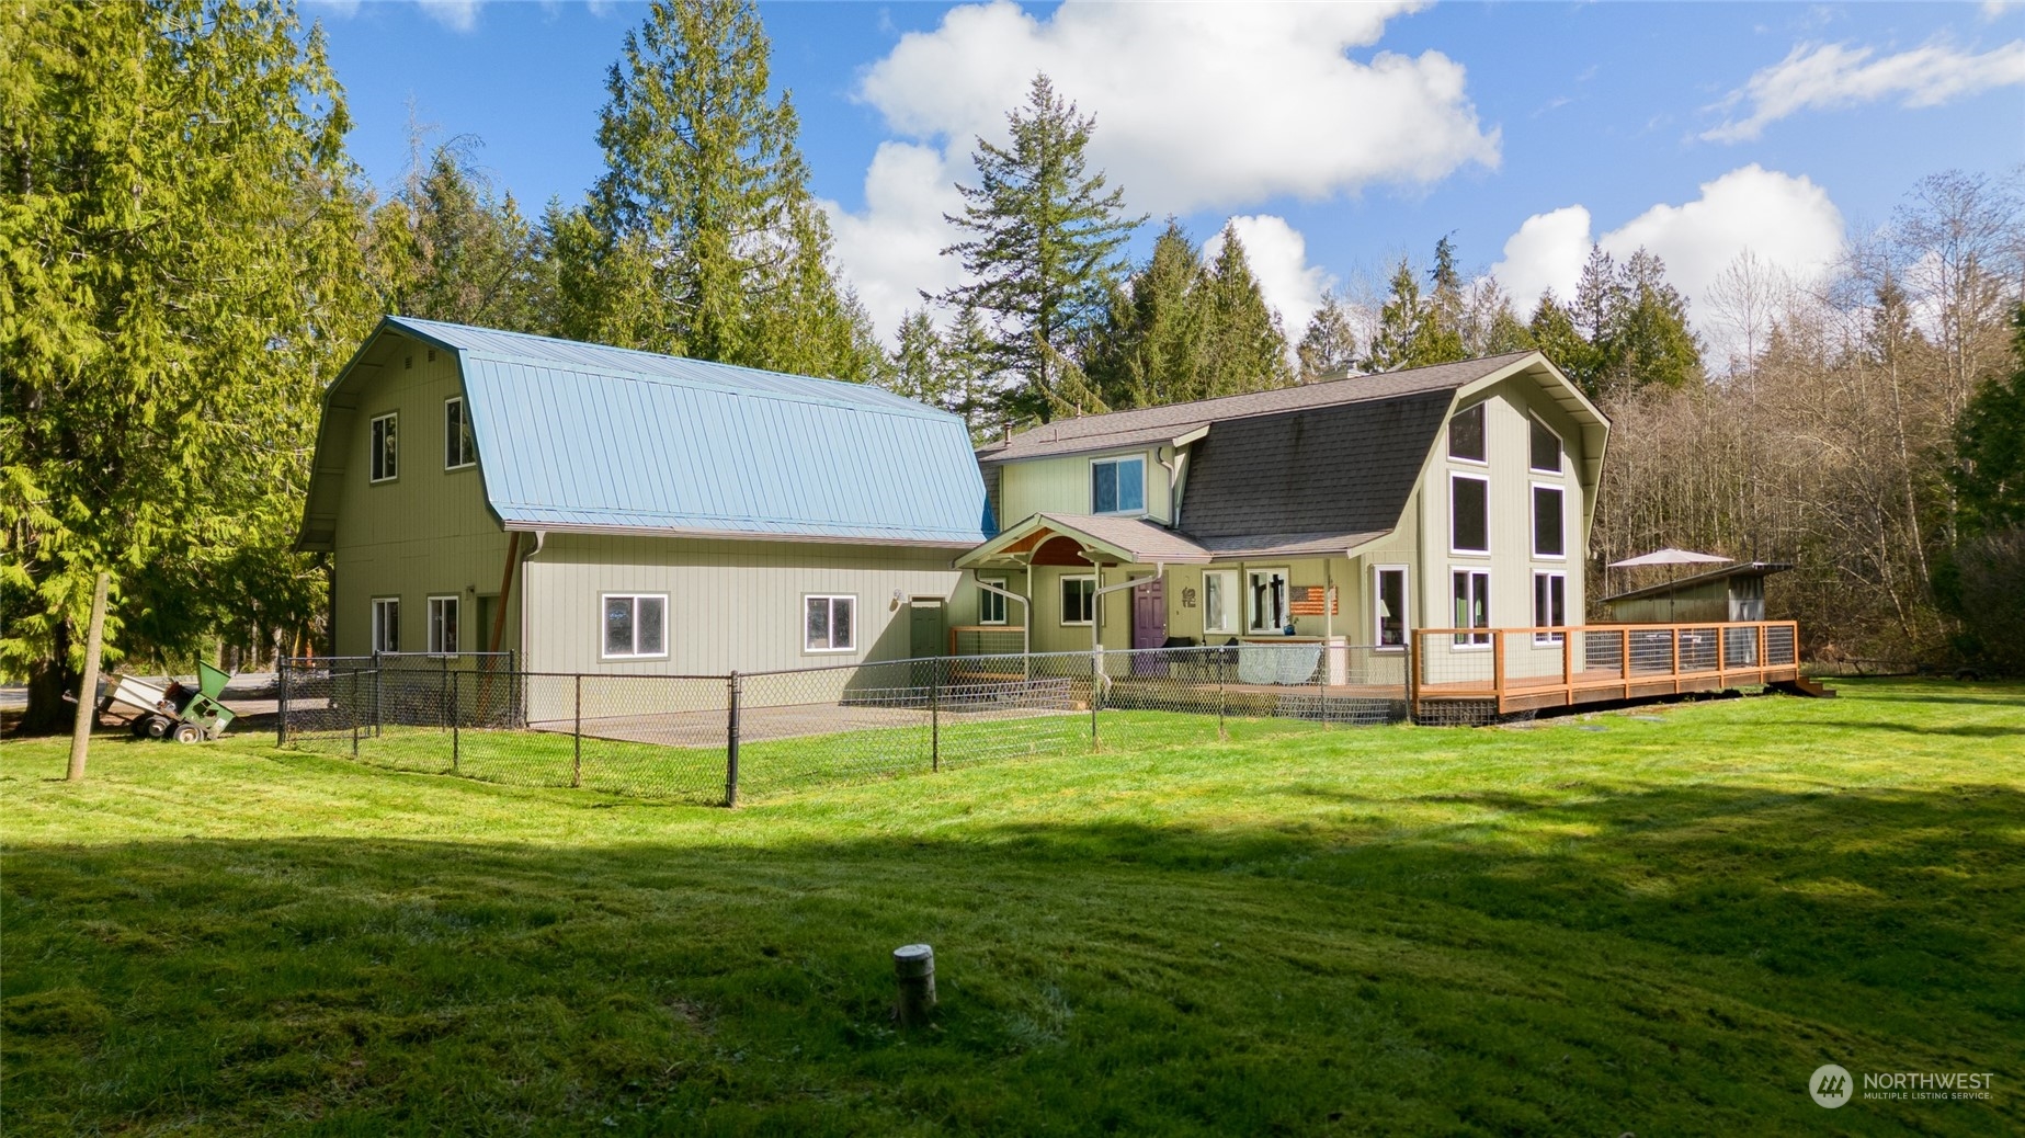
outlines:
M458 352L506 529L976 545L956 415L859 383L389 316Z

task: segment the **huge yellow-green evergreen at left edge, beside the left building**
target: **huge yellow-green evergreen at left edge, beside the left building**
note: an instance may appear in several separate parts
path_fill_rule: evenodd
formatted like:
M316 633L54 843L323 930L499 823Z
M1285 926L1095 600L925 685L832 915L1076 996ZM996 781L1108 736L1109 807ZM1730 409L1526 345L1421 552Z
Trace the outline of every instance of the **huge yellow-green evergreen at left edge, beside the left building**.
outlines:
M6 4L0 45L0 672L47 731L99 571L113 658L322 612L292 545L373 298L342 95L288 8Z

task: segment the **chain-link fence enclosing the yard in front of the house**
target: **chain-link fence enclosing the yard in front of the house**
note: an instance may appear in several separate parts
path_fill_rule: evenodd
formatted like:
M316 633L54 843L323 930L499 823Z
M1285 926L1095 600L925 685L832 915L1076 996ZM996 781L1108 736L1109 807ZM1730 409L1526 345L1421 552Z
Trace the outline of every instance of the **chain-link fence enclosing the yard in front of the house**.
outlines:
M1025 755L1399 719L1397 654L1320 644L946 656L725 676L381 656L286 660L279 741L510 786L737 804Z

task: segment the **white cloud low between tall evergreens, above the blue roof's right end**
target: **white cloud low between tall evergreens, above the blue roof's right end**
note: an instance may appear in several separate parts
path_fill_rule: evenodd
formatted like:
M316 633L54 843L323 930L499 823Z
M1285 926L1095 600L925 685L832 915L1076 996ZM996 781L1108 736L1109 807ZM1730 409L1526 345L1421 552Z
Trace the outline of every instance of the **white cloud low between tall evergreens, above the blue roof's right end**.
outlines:
M962 279L962 265L942 249L954 231L942 221L962 211L956 172L942 150L911 142L881 142L865 172L865 213L830 215L832 251L881 334L893 336L921 290L942 292Z

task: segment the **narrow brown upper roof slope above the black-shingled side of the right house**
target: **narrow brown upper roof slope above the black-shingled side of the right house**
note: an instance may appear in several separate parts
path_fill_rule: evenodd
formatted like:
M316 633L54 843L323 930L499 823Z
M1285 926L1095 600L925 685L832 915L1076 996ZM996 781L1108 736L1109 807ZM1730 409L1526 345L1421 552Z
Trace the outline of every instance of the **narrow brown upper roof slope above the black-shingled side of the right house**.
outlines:
M1229 419L1341 407L1349 403L1371 403L1377 399L1397 399L1401 395L1420 395L1430 391L1448 393L1529 354L1531 352L1509 352L1503 356L1484 356L1480 360L1389 371L1383 375L1357 375L1328 383L1310 383L1306 387L1282 387L1278 391L1197 399L1195 403L1168 403L1166 407L1138 407L1132 411L1112 411L1110 415L1057 419L1053 423L1021 431L1010 439L984 443L978 448L978 462L1017 462L1023 458L1146 445L1172 439L1207 423L1223 423Z

